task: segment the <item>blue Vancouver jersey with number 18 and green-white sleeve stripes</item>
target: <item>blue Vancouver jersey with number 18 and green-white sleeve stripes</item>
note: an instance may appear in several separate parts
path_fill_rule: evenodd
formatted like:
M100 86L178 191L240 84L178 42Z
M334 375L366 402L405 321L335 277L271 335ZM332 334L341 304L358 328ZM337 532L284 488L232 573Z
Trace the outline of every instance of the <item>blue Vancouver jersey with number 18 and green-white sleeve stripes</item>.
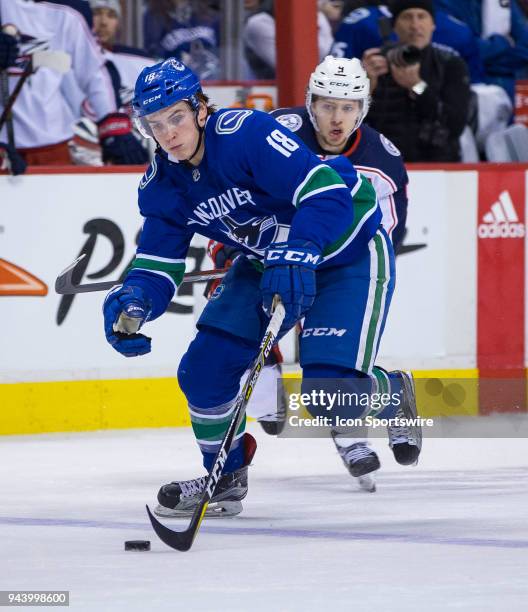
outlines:
M125 284L151 298L151 318L181 282L195 233L257 260L271 243L311 241L323 253L320 267L346 265L368 249L382 214L348 162L343 179L273 117L247 109L212 114L204 141L198 166L158 153L139 186L145 221Z

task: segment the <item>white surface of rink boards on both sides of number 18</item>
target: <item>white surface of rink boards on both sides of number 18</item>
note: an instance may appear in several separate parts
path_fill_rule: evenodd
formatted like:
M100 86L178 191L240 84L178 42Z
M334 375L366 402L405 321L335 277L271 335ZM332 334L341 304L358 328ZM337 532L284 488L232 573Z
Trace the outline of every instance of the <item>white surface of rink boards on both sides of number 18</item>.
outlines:
M197 307L149 324L153 351L140 359L124 360L108 347L102 330L104 293L76 296L64 322L56 322L60 297L53 290L55 278L85 244L88 222L104 219L124 237L120 265L92 282L117 278L133 257L141 226L139 178L132 173L0 177L0 257L49 287L46 297L0 299L0 317L8 322L2 330L0 382L175 375L195 333ZM426 248L398 258L380 362L425 369L475 366L476 183L476 172L410 173L405 244ZM203 247L203 239L197 244ZM87 272L100 270L111 255L110 241L99 236ZM191 267L194 263L189 260ZM209 262L202 267L210 267ZM178 303L201 307L203 285L194 291L196 297L178 297Z

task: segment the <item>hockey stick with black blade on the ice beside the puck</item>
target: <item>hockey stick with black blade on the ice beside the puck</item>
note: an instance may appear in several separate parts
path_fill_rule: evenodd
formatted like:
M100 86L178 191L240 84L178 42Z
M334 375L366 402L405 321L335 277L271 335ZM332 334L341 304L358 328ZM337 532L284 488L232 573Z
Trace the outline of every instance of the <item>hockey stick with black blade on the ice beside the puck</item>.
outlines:
M274 300L274 311L273 315L270 319L262 342L260 344L259 354L257 355L253 367L251 368L248 377L246 378L246 382L242 387L242 391L238 394L238 397L235 402L235 408L233 411L233 417L231 419L231 423L227 428L227 431L224 435L224 439L222 440L222 444L218 449L216 454L213 467L207 476L207 481L205 483L204 492L202 493L202 497L200 498L200 502L196 506L196 509L192 515L191 522L189 526L184 531L173 531L169 529L165 525L162 525L158 519L152 514L148 505L147 513L152 523L152 527L156 532L157 536L160 538L162 542L180 551L189 550L194 542L196 534L198 533L198 529L200 528L200 524L207 510L207 506L211 501L211 498L214 495L216 485L222 476L222 472L224 469L225 462L227 460L227 455L229 454L229 450L231 449L231 445L233 444L233 440L235 438L236 432L240 427L240 423L244 418L246 413L246 406L253 393L253 389L257 383L258 377L262 368L264 367L264 361L266 357L269 355L275 341L277 339L279 330L281 328L282 322L284 320L284 306L282 305L281 299L278 295L275 296Z

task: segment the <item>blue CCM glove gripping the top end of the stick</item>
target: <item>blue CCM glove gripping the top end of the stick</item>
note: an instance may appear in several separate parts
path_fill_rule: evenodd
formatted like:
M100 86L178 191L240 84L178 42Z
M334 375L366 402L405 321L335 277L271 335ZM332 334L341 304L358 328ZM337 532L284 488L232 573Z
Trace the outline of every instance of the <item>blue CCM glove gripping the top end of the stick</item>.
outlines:
M321 251L313 242L277 242L266 249L264 274L260 282L262 306L271 315L273 296L282 298L286 316L283 328L290 328L310 310L315 299L315 270Z

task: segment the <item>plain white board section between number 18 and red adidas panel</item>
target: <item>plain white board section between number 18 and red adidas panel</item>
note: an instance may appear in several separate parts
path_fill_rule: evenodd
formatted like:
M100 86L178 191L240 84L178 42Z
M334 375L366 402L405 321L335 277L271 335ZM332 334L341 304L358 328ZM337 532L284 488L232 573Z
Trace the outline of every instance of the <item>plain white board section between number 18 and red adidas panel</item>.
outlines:
M396 259L379 363L476 367L477 180L476 171L409 173L404 244L426 246Z

